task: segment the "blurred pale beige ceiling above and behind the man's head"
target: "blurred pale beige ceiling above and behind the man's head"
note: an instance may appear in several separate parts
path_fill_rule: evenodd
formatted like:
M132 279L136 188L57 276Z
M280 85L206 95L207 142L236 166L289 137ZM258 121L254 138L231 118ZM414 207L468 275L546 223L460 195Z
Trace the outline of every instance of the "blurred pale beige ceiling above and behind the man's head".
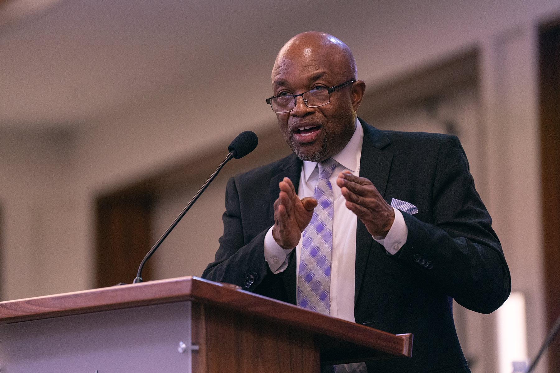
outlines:
M503 13L498 2L494 11ZM166 95L200 110L213 110L216 102L223 110L250 100L260 105L270 93L277 51L309 30L346 41L372 78L434 58L459 39L472 40L480 27L497 25L485 4L0 0L0 128L78 126ZM450 35L438 34L446 29ZM443 40L435 43L435 36Z

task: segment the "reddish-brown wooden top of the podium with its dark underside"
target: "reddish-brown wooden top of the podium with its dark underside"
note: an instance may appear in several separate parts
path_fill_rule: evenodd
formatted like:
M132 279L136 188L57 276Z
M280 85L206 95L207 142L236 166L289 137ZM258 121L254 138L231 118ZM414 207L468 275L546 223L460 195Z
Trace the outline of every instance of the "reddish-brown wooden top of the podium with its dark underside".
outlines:
M0 302L0 324L184 300L210 306L205 311L209 318L223 317L230 310L311 332L319 343L322 362L338 362L343 356L356 361L412 356L411 334L395 336L191 276Z

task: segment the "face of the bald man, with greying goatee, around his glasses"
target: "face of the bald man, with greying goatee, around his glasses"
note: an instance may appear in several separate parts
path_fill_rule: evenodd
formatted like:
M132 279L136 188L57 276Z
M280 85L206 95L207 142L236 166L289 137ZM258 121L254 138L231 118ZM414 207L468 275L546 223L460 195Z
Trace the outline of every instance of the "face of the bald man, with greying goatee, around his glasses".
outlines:
M274 64L274 96L282 92L299 95L310 89L347 82L351 77L341 58L315 48L287 51ZM330 102L319 107L307 107L300 96L291 112L276 114L286 143L300 159L319 162L346 147L355 129L352 89L353 85L348 84L334 91Z

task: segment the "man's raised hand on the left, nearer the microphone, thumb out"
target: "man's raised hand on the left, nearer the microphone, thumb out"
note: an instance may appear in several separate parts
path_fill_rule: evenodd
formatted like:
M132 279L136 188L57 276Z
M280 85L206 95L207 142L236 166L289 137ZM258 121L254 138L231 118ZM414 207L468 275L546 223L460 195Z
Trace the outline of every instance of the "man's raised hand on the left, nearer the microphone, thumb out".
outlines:
M284 177L279 182L280 193L274 201L274 227L272 237L284 249L293 249L300 242L301 233L311 221L317 200L305 197L300 200L292 181Z

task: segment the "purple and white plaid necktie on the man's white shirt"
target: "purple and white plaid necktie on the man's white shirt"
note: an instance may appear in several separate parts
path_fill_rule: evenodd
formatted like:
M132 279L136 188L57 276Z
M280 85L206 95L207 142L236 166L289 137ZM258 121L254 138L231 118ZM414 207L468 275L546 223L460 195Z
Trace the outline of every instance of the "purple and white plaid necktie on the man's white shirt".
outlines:
M318 205L304 230L297 281L297 305L324 315L330 313L333 187L329 177L335 167L337 162L332 158L319 163L319 180L314 195Z

